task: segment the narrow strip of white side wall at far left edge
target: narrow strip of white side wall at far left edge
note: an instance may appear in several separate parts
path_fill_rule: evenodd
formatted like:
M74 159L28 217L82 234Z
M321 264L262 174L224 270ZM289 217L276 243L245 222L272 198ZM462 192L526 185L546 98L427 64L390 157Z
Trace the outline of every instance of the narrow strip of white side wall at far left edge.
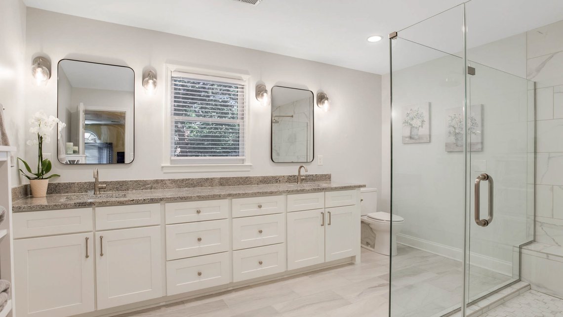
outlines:
M29 138L24 111L24 74L30 72L31 60L24 61L25 12L21 0L0 1L0 104L10 145L17 147L16 156L25 156L25 140ZM12 184L19 184L17 169L12 169Z

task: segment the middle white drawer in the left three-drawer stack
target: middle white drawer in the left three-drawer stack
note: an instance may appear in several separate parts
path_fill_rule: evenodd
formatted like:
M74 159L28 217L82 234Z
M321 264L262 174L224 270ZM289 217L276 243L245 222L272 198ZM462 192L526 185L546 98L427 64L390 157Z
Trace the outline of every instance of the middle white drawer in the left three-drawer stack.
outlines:
M203 256L229 250L229 220L168 224L166 259Z

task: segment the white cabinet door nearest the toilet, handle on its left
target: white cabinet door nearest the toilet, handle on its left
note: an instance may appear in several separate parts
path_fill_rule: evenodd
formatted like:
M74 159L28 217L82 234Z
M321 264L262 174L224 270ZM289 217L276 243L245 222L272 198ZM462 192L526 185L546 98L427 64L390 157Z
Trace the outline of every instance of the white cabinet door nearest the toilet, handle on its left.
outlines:
M358 206L325 209L326 261L355 256L360 247L360 216Z

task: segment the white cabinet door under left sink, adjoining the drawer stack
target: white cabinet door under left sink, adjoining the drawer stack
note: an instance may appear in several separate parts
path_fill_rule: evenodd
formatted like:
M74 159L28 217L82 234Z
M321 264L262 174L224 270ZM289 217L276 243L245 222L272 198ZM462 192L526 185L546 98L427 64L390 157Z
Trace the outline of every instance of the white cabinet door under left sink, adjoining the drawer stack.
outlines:
M97 308L162 296L160 227L96 232Z

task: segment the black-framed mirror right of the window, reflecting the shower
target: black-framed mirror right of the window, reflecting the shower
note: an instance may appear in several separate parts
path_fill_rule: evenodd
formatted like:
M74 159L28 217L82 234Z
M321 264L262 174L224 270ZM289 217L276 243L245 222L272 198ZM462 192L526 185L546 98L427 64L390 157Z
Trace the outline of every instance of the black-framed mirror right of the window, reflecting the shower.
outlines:
M312 162L314 94L310 90L272 87L272 161Z

